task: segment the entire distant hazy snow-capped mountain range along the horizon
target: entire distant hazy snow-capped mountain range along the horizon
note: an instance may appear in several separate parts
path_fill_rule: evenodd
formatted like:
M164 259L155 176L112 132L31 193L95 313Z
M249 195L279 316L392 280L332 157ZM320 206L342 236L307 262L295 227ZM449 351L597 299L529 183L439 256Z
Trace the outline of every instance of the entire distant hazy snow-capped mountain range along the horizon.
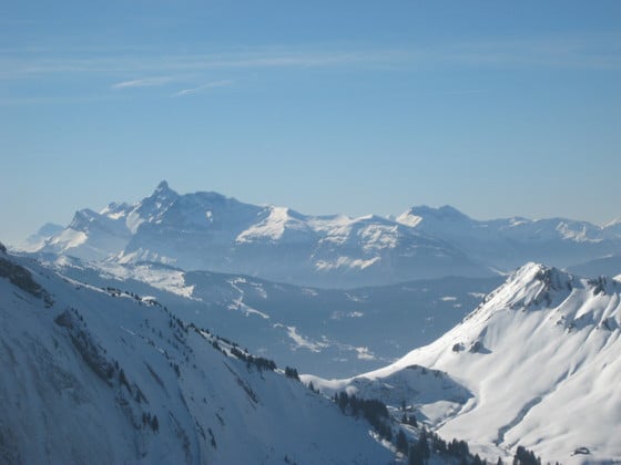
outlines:
M414 207L395 220L307 216L216 193L180 195L162 182L136 204L79 210L67 228L48 226L22 248L343 288L490 276L529 260L577 265L618 254L619 225L562 218L479 221L448 206Z

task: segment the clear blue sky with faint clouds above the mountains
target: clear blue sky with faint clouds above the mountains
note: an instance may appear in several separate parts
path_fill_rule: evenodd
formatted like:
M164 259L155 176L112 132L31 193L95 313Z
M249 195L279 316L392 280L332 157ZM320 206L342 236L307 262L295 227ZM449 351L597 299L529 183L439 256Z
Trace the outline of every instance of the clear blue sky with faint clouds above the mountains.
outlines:
M621 2L0 3L0 240L161 179L306 214L621 216Z

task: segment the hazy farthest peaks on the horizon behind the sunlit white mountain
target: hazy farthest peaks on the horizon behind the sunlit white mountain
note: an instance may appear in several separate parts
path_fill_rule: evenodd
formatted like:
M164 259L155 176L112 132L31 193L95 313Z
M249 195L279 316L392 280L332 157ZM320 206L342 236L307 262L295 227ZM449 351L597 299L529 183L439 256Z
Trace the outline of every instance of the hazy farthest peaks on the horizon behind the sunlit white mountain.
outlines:
M527 261L567 267L621 250L619 223L600 227L564 218L520 217L480 221L450 206L413 207L397 221L506 270Z

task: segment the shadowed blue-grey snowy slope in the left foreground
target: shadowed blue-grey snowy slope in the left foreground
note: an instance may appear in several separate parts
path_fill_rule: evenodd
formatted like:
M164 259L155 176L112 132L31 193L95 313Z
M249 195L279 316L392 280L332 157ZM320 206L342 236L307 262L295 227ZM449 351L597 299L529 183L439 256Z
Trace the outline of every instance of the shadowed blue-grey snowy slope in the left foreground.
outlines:
M393 461L368 423L241 358L159 303L0 251L0 463Z

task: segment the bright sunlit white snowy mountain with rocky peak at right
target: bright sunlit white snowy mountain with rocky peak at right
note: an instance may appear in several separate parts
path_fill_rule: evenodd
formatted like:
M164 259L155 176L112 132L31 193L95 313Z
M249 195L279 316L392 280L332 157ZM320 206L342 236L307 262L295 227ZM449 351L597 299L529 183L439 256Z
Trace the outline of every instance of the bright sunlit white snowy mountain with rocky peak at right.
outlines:
M522 445L544 461L611 463L621 459L620 334L621 283L529 264L434 343L359 379L314 383L363 383L389 401L397 390L440 435L462 437L488 458ZM404 373L415 365L471 396L409 395ZM590 453L574 454L581 447Z

